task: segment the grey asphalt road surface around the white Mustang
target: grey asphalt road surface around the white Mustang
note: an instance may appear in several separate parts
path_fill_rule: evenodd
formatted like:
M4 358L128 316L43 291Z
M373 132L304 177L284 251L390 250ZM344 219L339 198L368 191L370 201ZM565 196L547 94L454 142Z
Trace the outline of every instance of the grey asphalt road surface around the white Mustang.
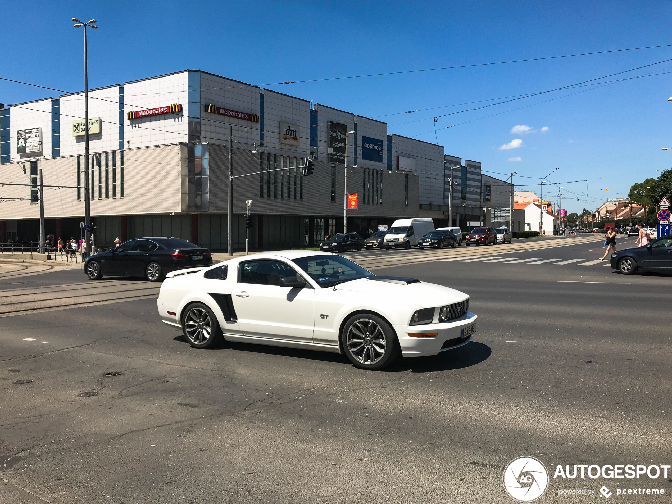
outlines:
M192 349L153 299L5 317L0 491L28 503L510 503L502 474L517 456L550 476L556 464L671 464L672 276L584 265L599 245L375 269L467 292L480 317L468 345L383 372L313 351ZM58 290L53 276L75 274L24 280ZM632 488L558 482L544 501ZM671 481L655 482L666 495L636 499L671 501Z

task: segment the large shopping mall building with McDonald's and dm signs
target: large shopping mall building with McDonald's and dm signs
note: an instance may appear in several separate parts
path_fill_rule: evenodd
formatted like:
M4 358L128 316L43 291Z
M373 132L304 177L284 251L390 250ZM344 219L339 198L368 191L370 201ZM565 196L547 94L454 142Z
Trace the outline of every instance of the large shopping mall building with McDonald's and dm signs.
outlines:
M85 190L83 93L0 105L0 242L36 241L42 171L46 234L79 238ZM396 218L448 225L482 220L480 163L396 134L387 124L204 71L187 70L89 91L89 182L97 247L116 237L174 236L226 249L233 128L233 247L319 243L347 229L364 236ZM302 175L306 158L314 174ZM278 170L278 171L271 171ZM77 188L80 186L80 188Z

